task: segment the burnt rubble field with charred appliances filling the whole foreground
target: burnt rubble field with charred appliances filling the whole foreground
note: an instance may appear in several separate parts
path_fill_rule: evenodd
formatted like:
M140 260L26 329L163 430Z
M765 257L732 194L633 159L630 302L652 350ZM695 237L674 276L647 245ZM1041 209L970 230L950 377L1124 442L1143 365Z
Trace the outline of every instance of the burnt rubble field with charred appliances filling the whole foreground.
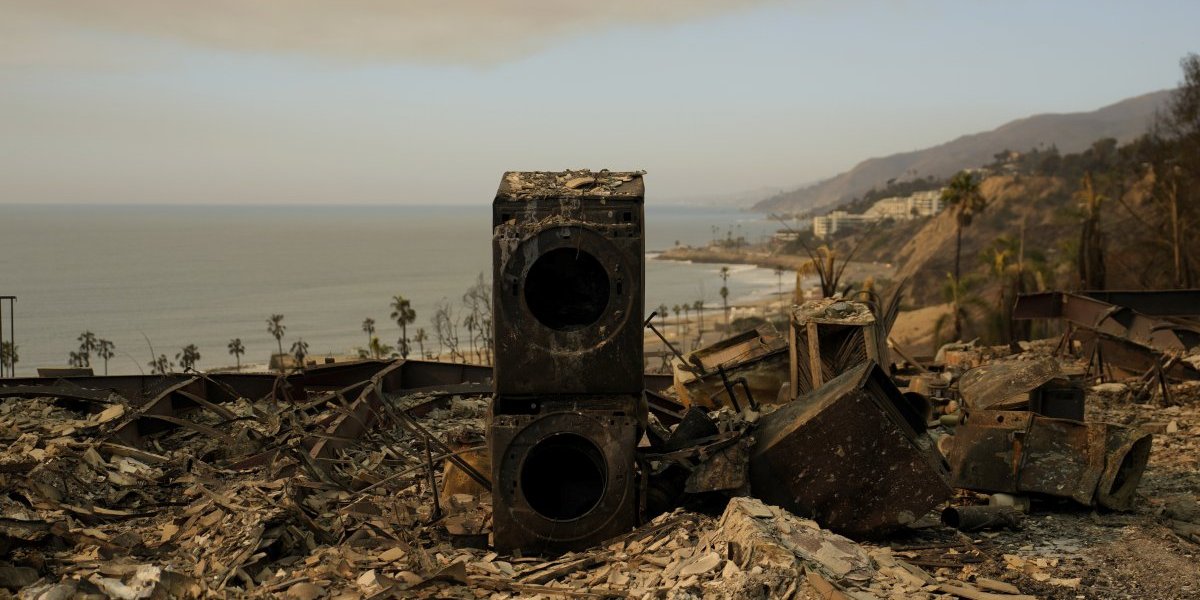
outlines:
M0 598L1200 594L1088 556L1198 550L1200 292L1024 296L1066 334L919 362L895 298L816 300L642 376L642 194L505 174L494 371L0 382Z

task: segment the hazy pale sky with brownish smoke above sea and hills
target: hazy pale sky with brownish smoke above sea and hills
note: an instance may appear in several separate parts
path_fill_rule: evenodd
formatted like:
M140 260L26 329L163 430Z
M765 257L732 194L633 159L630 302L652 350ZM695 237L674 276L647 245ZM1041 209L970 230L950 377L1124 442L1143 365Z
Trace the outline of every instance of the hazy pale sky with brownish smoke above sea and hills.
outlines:
M794 187L1174 86L1200 2L0 0L0 203ZM2 217L2 211L0 211Z

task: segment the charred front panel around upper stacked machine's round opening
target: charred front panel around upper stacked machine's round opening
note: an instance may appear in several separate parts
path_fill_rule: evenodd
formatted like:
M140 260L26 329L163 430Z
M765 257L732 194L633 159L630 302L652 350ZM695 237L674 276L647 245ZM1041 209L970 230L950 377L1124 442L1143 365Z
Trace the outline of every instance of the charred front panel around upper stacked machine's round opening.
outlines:
M497 392L640 392L640 270L586 226L521 240L496 277Z

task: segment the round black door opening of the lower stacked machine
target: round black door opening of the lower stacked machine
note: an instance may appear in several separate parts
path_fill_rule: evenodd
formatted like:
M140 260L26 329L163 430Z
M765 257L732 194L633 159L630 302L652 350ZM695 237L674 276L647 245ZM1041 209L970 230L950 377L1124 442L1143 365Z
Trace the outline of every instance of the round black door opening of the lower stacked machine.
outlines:
M574 521L604 499L608 469L592 440L576 433L554 433L529 449L520 481L521 493L539 515Z

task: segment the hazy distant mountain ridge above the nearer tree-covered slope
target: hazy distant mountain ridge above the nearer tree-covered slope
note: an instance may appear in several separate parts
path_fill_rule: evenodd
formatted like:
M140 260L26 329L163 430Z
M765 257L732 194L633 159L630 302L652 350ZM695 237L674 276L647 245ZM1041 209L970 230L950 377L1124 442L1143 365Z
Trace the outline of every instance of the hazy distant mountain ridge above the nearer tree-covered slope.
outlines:
M1003 150L1055 145L1069 154L1086 149L1099 138L1124 143L1145 133L1154 112L1164 106L1169 95L1169 91L1146 94L1090 113L1034 115L924 150L870 158L840 175L767 198L755 204L754 210L804 212L832 208L906 174L944 178L965 168L980 167L992 162Z

